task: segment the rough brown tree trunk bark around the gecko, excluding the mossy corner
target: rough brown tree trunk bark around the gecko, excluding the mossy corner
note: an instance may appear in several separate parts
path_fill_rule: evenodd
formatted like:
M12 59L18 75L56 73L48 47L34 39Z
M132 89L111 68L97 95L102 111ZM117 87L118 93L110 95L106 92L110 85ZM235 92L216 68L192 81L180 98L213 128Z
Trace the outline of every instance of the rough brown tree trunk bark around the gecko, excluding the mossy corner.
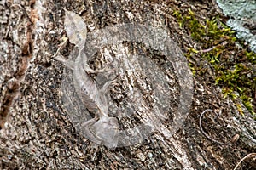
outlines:
M84 51L90 67L114 68L91 75L99 88L116 80L106 93L108 115L118 118L124 135L113 150L84 133L83 123L96 115L68 88L72 71L53 57L67 37L64 8L87 25ZM215 4L192 1L3 0L1 169L233 169L256 152L255 121L247 109L242 106L241 116L210 73L193 77L189 71L183 53L195 42L172 15L188 8L203 18L206 10L209 16L218 14ZM122 36L128 38L113 41ZM68 42L61 54L75 59L74 45ZM221 111L221 116L213 120L212 111L201 116L207 109ZM146 124L154 129L143 131ZM253 167L255 160L247 159L240 168Z

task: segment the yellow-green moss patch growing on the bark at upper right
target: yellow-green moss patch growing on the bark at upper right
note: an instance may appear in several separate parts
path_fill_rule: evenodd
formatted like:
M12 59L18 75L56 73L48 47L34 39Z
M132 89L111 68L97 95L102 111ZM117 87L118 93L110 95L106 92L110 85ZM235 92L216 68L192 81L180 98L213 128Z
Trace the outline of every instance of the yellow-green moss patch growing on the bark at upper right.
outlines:
M247 110L255 116L253 94L256 89L256 76L253 65L256 64L256 54L237 48L235 31L225 26L218 17L201 21L190 9L187 14L175 11L173 15L176 16L179 26L186 29L195 42L206 49L199 51L188 48L185 56L193 74L203 75L205 69L201 65L194 65L191 56L200 55L207 59L214 68L215 83L223 88L224 98L240 98ZM242 113L241 105L236 104L236 107Z

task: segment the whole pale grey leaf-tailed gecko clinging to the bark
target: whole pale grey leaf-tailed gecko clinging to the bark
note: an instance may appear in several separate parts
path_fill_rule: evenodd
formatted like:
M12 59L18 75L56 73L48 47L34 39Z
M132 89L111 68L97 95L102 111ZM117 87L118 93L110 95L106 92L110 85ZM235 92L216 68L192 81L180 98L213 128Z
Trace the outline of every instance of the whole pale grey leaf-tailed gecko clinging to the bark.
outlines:
M109 149L117 146L119 141L119 124L115 117L108 116L108 104L105 93L114 81L106 82L102 89L98 89L96 82L90 77L91 73L108 71L107 69L94 71L87 64L87 57L83 53L87 30L79 15L66 11L65 26L69 41L79 48L79 55L75 61L65 59L60 49L67 42L63 42L55 54L55 59L61 61L73 70L73 84L79 99L83 101L88 111L95 113L95 117L82 124L87 138L96 144L106 145Z

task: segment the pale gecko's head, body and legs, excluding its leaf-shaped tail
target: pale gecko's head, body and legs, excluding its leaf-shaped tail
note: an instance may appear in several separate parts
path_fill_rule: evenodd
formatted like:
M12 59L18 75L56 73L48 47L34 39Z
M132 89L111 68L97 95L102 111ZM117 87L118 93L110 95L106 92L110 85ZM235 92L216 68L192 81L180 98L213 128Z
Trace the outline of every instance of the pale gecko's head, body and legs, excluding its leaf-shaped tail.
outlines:
M79 50L79 56L77 56L74 63L64 59L61 54L55 59L73 70L73 84L79 99L83 101L88 111L95 113L93 119L82 124L86 137L96 144L103 144L109 149L113 149L119 141L119 124L115 117L108 117L108 104L105 96L109 85L113 81L106 82L102 89L99 90L96 82L90 77L90 73L98 73L106 71L106 69L91 70L86 63L85 54L81 53L81 51Z

